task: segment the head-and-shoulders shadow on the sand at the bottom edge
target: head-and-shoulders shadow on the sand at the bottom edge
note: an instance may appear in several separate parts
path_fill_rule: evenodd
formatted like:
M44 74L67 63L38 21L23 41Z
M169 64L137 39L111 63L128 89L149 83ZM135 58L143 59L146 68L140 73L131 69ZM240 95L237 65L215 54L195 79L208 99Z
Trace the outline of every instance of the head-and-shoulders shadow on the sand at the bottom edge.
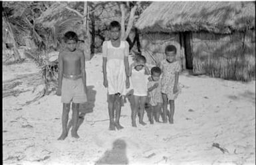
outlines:
M113 142L112 150L106 150L102 158L95 164L128 164L126 157L126 142L120 138Z

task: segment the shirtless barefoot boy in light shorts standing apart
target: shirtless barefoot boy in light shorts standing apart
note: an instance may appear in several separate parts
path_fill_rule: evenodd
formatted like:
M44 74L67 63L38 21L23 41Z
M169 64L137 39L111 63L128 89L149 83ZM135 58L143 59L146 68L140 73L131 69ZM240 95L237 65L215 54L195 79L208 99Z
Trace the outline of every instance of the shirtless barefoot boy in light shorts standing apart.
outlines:
M63 133L58 140L64 140L68 135L67 123L70 103L72 102L72 129L71 135L79 138L77 134L79 103L85 103L86 97L86 72L84 53L76 48L78 36L75 32L68 31L64 34L66 48L59 54L59 87L57 95L61 95L63 103Z

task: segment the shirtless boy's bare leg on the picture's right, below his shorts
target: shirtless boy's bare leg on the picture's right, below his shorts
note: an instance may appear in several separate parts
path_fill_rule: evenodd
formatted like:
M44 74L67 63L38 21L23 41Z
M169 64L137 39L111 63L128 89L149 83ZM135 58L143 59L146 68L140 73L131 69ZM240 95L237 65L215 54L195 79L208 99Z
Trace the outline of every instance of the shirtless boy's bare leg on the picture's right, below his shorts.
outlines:
M72 103L72 129L71 136L74 138L79 138L77 134L78 127L78 115L79 115L79 103Z

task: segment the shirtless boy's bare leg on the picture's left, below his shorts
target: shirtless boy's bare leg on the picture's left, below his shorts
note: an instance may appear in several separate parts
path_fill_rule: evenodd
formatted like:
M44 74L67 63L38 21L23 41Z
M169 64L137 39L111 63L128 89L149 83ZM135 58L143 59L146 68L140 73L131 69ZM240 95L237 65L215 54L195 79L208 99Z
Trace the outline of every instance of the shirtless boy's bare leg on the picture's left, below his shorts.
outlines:
M70 103L63 103L63 116L62 116L62 124L63 124L63 133L61 133L61 137L58 140L64 140L68 136L68 113L70 111Z

